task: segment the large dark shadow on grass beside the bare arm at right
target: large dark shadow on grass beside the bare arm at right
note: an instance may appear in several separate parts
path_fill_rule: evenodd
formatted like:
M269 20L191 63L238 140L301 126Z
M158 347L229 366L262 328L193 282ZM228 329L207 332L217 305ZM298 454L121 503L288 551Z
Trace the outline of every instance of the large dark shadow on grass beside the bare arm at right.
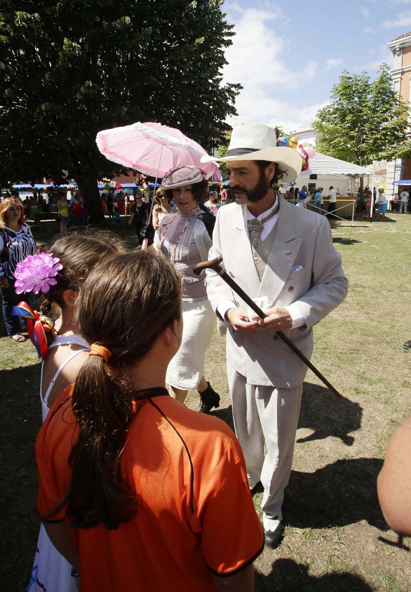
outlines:
M379 458L339 460L313 473L292 471L283 514L298 528L347 526L361 520L389 530L377 497Z

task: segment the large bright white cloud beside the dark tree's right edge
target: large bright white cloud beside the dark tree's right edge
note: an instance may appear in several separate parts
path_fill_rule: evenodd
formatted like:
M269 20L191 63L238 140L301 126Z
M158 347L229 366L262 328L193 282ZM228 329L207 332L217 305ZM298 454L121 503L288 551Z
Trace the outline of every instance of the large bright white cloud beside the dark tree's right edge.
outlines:
M283 53L287 42L279 36L280 27L270 26L274 21L286 22L281 8L267 2L261 9L244 9L236 4L225 4L227 20L234 22L236 33L233 44L225 52L228 65L224 67L224 82L240 83L244 88L237 96L235 106L238 117L231 125L264 123L281 126L286 130L308 128L323 104L301 108L302 96L295 93L296 102L281 99L281 89L295 91L315 81L318 62L310 61L300 70L286 66Z

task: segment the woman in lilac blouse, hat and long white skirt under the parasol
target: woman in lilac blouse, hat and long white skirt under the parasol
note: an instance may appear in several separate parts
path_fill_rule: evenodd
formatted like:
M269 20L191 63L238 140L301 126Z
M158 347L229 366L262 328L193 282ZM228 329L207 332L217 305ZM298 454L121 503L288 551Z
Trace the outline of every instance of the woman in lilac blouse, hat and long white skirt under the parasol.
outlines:
M203 171L196 166L171 170L163 178L166 197L174 201L178 213L166 215L158 227L157 250L174 263L183 281L183 339L169 364L166 381L170 394L185 401L196 388L200 411L209 413L219 406L219 395L203 376L205 350L211 344L215 314L208 301L203 279L193 274L193 266L208 260L215 218L199 209L207 191Z

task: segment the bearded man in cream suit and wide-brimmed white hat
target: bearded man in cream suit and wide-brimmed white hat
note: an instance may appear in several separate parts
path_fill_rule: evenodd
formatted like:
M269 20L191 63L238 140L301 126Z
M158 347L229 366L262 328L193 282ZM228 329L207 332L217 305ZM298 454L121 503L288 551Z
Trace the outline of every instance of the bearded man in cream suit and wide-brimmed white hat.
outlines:
M282 533L281 505L293 460L305 364L277 336L283 331L310 358L312 326L347 295L341 256L332 244L328 220L289 204L276 191L295 181L299 153L277 147L265 124L235 127L224 160L235 203L220 208L209 258L223 258L226 272L266 308L259 319L214 272L208 298L228 324L227 372L235 433L253 489L264 487L266 545ZM264 441L267 455L264 458Z

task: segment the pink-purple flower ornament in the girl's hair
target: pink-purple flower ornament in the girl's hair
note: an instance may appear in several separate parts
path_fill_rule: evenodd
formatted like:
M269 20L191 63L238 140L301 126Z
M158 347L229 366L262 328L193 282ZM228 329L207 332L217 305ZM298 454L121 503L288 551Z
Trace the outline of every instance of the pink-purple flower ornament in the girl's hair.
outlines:
M25 259L17 263L14 277L16 278L14 288L16 294L22 292L32 292L46 294L50 286L57 284L56 276L63 269L62 263L58 257L53 257L53 253L37 253L37 255L28 255Z

